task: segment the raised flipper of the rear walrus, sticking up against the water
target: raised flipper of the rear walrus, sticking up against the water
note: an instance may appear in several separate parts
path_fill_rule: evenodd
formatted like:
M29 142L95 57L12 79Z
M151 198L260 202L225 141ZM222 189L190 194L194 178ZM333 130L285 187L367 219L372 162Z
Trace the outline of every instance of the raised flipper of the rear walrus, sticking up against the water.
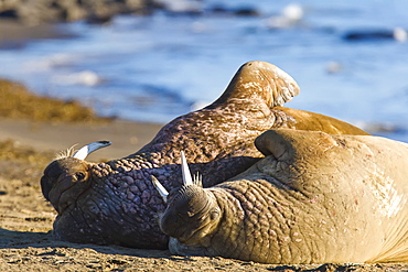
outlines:
M277 66L266 62L248 62L240 66L224 94L210 107L232 99L259 101L270 108L282 106L299 95L294 79Z

